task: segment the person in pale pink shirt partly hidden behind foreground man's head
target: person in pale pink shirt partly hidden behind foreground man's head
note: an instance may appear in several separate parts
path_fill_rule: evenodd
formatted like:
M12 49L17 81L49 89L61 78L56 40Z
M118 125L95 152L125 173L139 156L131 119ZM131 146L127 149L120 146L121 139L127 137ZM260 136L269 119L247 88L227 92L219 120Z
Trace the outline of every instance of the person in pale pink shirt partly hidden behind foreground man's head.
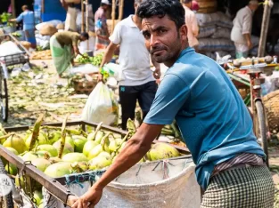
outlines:
M199 35L199 26L197 18L194 12L191 10L193 7L192 0L184 0L183 7L185 9L185 24L188 29L188 42L190 47L197 49L199 41L197 36Z

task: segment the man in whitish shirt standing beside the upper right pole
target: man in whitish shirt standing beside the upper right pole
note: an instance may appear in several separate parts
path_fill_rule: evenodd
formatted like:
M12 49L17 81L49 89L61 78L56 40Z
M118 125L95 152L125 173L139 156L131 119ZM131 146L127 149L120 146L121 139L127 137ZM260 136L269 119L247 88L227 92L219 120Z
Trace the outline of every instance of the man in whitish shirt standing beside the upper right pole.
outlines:
M247 6L237 12L234 18L234 27L231 32L231 40L234 41L236 59L247 58L251 42L251 29L253 13L258 9L258 1L251 0Z

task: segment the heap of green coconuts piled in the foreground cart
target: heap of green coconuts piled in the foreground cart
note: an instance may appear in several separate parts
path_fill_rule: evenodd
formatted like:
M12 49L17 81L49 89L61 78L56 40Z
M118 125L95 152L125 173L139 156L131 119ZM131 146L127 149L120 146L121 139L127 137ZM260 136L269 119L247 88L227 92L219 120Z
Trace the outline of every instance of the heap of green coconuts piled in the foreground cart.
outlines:
M13 154L20 156L23 161L30 161L38 170L52 178L107 168L136 131L131 120L127 122L127 135L122 139L119 134L103 130L103 123L99 124L94 132L84 132L67 127L67 117L62 127L41 126L42 119L43 116L40 116L34 127L24 134L7 134L1 128L0 141ZM139 163L176 156L180 156L176 148L166 143L156 143ZM4 161L4 164L6 171L16 176L16 185L27 192L31 184L29 176L18 175L18 169L7 161ZM35 184L33 188L36 190L34 198L37 199L37 205L41 204L42 186Z

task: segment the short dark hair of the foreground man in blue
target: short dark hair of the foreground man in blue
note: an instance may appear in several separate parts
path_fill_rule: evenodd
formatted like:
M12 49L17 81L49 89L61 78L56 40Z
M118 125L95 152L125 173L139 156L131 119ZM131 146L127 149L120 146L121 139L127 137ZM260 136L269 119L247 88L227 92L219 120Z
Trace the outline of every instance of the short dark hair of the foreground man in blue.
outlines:
M166 15L176 23L177 29L185 25L185 9L178 0L144 0L137 9L137 16L142 19Z

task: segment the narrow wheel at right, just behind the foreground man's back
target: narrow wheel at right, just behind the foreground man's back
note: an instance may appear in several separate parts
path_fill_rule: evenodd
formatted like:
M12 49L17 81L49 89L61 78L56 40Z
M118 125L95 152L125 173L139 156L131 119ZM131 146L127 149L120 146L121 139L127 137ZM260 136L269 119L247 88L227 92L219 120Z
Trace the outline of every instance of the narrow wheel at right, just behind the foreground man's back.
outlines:
M258 128L256 129L257 138L267 156L267 166L269 166L266 116L264 112L263 103L260 100L256 101L256 109L257 109L257 117L255 117L255 119L257 119L256 122L258 124L258 125L256 124L256 126L258 126Z

